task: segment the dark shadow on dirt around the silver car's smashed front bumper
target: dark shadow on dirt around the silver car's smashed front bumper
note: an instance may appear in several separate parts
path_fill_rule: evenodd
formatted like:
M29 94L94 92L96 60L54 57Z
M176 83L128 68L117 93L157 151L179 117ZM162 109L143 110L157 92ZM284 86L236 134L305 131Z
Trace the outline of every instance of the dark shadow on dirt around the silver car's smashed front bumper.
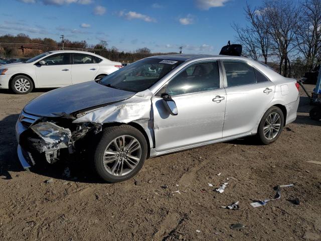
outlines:
M11 114L0 120L0 178L12 179L10 172L26 171L23 169L17 155L17 140L15 125L19 114ZM46 164L45 158L42 163L38 163L29 171L48 178L62 179L66 181L76 181L84 183L102 183L91 171L89 162L84 160L61 161L54 165ZM70 176L65 175L68 167Z

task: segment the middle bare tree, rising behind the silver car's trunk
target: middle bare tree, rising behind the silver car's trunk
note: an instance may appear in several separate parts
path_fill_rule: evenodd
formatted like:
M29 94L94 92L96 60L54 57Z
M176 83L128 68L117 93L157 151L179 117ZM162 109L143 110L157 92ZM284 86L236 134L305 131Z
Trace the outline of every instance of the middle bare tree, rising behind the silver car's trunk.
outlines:
M265 0L263 9L268 33L273 40L272 54L279 60L279 73L290 76L289 53L297 46L300 6L291 0Z

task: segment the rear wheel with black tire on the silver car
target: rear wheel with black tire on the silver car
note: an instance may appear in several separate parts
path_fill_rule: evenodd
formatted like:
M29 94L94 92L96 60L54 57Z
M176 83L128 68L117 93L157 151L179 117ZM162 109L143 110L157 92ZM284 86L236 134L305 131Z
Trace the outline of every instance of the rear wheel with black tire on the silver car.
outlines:
M277 106L272 106L263 115L257 137L264 145L275 142L284 127L284 115L282 110Z

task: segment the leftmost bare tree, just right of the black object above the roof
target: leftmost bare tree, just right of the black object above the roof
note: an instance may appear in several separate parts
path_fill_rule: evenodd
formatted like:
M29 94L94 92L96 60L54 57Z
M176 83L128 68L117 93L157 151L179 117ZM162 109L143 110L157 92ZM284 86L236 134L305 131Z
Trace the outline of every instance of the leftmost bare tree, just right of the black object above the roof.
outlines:
M269 57L271 38L265 20L265 11L262 8L253 10L247 4L245 9L246 20L249 23L246 27L234 24L232 27L236 31L239 41L244 48L244 55L258 60L260 57L267 63Z

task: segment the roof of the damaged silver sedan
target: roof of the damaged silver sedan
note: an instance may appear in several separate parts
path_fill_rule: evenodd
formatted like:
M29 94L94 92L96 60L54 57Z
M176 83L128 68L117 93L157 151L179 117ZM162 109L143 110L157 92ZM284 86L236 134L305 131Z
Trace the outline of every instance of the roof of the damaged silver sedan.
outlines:
M204 58L240 59L240 60L248 59L248 58L239 57L239 56L210 55L210 54L169 54L169 55L155 55L148 58L177 60L177 61L198 60L198 59L204 59Z

